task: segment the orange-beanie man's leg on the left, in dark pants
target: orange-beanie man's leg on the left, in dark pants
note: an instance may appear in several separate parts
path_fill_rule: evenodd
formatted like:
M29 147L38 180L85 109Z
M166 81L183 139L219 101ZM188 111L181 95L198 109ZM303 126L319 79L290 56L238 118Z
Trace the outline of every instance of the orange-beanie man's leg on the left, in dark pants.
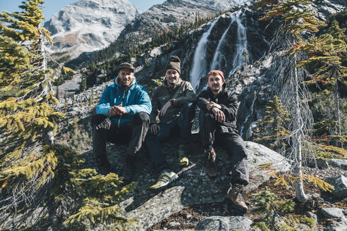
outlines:
M199 113L199 127L202 138L202 146L205 149L205 166L209 177L217 176L216 152L212 144L214 143L214 133L216 132L217 122L210 113Z

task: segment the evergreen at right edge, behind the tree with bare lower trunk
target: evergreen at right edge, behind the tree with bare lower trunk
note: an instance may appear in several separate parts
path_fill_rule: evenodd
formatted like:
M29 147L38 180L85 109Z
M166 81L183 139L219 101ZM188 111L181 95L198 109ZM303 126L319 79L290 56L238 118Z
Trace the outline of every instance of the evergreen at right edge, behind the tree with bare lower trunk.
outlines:
M326 88L323 94L334 96L334 132L329 132L333 137L341 137L341 113L339 106L339 83L347 86L347 68L342 64L342 58L346 57L347 44L345 42L345 29L341 30L339 23L333 21L329 33L310 38L307 43L302 43L296 50L307 51L310 57L300 61L298 66L319 66L312 75L314 80L309 83L319 82Z

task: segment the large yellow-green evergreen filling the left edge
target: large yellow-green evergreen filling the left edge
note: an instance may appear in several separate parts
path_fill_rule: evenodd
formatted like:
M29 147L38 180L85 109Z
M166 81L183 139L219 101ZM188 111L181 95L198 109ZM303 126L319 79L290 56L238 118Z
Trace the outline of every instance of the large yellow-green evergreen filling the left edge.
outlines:
M118 203L134 185L119 187L116 174L82 168L82 158L54 144L64 115L53 109L42 4L27 0L22 12L0 13L0 89L18 90L0 101L0 229L59 229L63 221L69 230L98 223L122 229L131 220Z

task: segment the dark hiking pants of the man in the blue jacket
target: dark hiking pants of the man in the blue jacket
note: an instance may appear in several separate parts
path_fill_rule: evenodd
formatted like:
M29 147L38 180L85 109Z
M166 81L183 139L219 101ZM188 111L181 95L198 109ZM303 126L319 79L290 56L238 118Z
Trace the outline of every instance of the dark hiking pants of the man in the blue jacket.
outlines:
M95 158L106 157L106 142L128 143L126 158L135 158L150 125L150 116L145 112L136 113L131 123L118 125L111 123L107 116L96 114L92 117L93 152Z

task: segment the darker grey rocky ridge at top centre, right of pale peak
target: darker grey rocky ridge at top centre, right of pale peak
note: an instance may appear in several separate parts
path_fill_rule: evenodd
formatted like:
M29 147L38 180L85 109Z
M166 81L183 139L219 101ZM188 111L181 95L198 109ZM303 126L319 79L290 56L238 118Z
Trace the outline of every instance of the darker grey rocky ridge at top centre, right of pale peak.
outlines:
M197 15L210 17L236 5L233 0L167 0L163 4L152 6L131 21L119 37L152 37L154 32L192 23Z

